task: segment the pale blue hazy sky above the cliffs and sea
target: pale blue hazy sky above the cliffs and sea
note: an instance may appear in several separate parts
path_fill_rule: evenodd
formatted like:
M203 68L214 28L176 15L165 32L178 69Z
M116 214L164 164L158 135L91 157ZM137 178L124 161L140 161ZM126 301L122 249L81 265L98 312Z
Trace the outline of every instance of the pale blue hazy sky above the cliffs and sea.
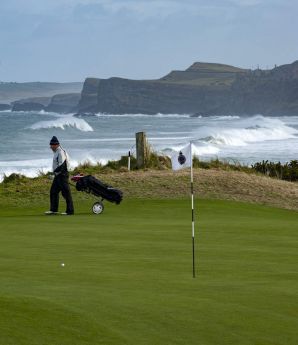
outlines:
M160 78L298 60L297 0L1 0L0 81Z

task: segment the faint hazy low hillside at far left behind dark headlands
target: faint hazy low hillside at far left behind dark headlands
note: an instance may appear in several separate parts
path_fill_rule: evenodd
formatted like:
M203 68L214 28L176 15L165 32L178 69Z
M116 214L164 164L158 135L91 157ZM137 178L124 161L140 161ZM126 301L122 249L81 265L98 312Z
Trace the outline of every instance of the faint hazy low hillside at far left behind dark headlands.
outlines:
M20 99L52 97L56 94L80 93L82 82L74 83L0 83L0 103L10 103Z

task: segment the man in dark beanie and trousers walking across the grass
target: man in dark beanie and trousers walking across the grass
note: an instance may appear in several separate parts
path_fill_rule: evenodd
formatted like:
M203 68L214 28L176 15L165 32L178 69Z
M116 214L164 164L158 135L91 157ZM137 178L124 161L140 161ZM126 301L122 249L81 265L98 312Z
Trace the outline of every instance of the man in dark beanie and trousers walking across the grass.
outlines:
M53 172L54 180L50 191L51 207L50 211L45 212L47 215L57 214L59 207L59 193L62 192L62 196L66 201L66 212L63 215L74 214L73 202L68 184L68 155L66 151L60 146L57 137L53 136L50 141L51 150L54 152L53 157Z

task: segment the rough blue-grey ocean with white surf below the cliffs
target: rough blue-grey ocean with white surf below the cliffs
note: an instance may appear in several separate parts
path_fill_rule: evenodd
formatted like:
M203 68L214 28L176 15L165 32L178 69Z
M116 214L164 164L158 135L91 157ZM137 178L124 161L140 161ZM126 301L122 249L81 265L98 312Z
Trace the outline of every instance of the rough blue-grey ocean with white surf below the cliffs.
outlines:
M298 159L298 116L255 115L61 115L0 112L0 180L4 174L34 177L51 170L53 135L68 151L71 165L106 163L135 152L135 133L144 131L153 150L170 156L189 141L201 160L219 158L250 165Z

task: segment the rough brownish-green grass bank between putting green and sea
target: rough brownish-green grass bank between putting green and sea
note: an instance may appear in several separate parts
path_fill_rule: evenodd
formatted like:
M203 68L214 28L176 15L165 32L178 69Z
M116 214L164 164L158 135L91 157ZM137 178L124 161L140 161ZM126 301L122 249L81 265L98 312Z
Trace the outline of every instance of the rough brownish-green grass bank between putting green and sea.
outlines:
M185 198L190 194L188 170L147 170L95 173L99 179L121 189L125 198ZM0 184L0 205L48 201L51 182L46 177L15 178ZM238 171L194 169L194 191L199 198L244 201L298 210L298 183ZM90 196L73 189L75 200Z

